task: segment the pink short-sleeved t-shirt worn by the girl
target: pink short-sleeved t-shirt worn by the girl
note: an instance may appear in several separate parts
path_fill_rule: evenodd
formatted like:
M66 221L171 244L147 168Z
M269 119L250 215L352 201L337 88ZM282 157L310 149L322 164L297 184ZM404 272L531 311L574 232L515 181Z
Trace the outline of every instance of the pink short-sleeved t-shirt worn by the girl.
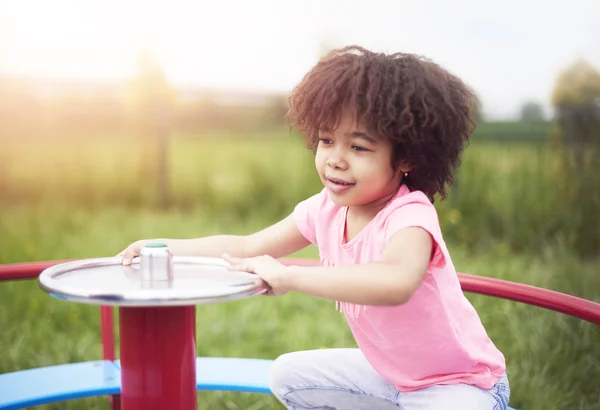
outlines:
M300 232L319 248L325 266L375 262L392 235L407 227L425 229L435 242L427 274L408 302L340 304L373 368L400 391L454 383L491 388L505 372L504 356L461 290L437 212L425 194L401 186L385 208L345 243L347 210L335 205L326 189L294 210Z

